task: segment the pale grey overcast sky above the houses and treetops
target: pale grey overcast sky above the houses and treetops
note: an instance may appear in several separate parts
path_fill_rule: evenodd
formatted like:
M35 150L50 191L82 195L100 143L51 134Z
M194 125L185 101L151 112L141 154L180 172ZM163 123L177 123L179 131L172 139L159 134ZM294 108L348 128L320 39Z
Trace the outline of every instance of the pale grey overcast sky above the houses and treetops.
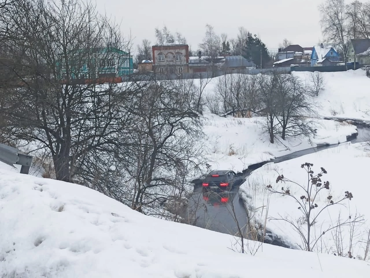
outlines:
M322 38L318 7L323 0L96 0L100 12L121 22L122 32L131 34L134 49L142 39L155 44L154 29L164 24L185 36L192 50L198 49L211 24L216 33L236 37L243 26L258 34L267 47L277 50L284 38L302 47ZM349 2L349 1L348 1Z

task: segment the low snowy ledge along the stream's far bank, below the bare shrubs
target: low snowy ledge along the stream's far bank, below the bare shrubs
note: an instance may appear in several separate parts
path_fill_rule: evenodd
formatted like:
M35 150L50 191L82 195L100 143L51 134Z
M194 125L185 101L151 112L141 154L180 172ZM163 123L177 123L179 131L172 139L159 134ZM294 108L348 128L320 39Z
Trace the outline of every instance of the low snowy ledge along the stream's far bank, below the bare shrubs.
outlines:
M241 172L248 166L269 161L317 145L346 142L347 136L356 133L356 127L333 120L316 120L317 134L313 138L277 138L274 144L263 133L264 118L223 118L205 115L204 145L208 164L212 169L232 169Z

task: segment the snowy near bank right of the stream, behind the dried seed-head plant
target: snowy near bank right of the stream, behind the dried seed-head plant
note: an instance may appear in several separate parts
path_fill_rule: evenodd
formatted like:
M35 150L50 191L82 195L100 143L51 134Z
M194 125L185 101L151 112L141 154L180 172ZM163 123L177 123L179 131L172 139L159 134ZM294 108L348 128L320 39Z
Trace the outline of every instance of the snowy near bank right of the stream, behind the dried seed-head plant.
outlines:
M351 219L361 215L364 218L363 223L357 223L354 226L344 225L340 229L335 228L326 232L319 240L314 251L329 254L341 252L344 255L348 255L347 252L350 251L354 257L364 258L366 256L367 259L370 259L370 254L366 252L366 246L370 240L370 208L367 195L369 193L370 152L367 143L343 143L338 147L300 158L263 165L253 171L247 181L240 186L239 193L243 196L247 208L249 208L251 214L255 215L257 221L262 219L263 222L263 219L267 217L266 228L283 239L287 239L298 248L297 244L301 245L302 241L293 225L284 220L273 219L290 220L302 228L307 235L307 225L302 221L303 214L298 209L299 205L290 196L268 191L266 186L272 185L273 189L279 192L284 187L284 190L289 189L290 194L299 199L300 196L305 195L303 189L293 183L276 183L276 178L282 174L285 178L306 187L307 172L300 167L301 164L306 162L313 163L314 174L320 172L320 167L326 169L327 174L323 174L322 182L330 182L329 191L326 189L320 191L315 199L315 203L318 205L318 209L313 210L315 216L329 202L327 196L333 196L332 200L336 202L336 200L344 197L345 191L353 194L351 200L346 199L342 202L343 205L333 205L324 209L311 230L312 239L319 238L327 228L336 226L339 215L342 221L345 221L349 216L351 216ZM351 228L352 235L350 233Z

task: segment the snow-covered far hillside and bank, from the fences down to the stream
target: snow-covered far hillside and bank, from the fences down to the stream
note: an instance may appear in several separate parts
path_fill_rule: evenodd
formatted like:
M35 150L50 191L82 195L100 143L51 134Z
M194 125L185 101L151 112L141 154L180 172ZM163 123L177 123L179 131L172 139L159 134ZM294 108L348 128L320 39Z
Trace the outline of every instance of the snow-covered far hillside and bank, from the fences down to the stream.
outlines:
M309 72L293 72L304 82L312 82ZM337 116L370 120L370 79L363 70L322 73L325 89L316 98L319 107L317 117ZM217 80L213 78L205 87L205 95L215 94ZM196 81L196 80L195 80ZM198 81L199 82L199 81ZM212 169L228 168L242 171L249 165L268 161L278 156L323 144L346 142L346 136L355 131L355 126L332 120L317 122L315 138L276 140L270 144L263 133L263 118L223 118L205 111L207 158ZM203 144L203 142L202 142Z

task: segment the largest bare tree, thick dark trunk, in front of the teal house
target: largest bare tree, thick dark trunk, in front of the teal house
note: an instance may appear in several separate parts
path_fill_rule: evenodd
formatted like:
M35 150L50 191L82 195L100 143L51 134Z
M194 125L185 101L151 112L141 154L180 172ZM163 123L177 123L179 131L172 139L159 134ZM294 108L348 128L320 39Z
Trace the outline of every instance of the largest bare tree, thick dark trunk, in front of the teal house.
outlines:
M97 60L117 63L118 69L126 58L119 60L110 50L128 49L129 40L122 39L119 26L98 14L95 6L74 0L22 1L7 18L15 26L7 52L27 70L23 76L17 67L11 68L19 86L13 95L16 102L5 111L7 133L50 150L57 179L91 183L95 174L85 171L87 162L99 151L97 165L106 163L102 153L114 154L122 142L117 135L129 122L119 106L134 93L114 83L96 86L97 68L102 66ZM92 82L80 82L81 77Z

